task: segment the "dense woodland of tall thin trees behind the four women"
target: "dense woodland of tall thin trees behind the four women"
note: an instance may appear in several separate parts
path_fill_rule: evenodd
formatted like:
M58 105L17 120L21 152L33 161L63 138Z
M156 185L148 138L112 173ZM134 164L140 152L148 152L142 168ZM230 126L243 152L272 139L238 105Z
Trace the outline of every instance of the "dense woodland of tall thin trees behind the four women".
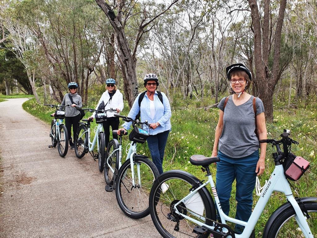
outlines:
M131 107L142 78L159 90L215 103L228 94L225 67L244 63L250 93L273 120L273 99L316 99L317 7L307 1L1 0L0 91L43 92L61 102L71 81L88 89L115 78Z

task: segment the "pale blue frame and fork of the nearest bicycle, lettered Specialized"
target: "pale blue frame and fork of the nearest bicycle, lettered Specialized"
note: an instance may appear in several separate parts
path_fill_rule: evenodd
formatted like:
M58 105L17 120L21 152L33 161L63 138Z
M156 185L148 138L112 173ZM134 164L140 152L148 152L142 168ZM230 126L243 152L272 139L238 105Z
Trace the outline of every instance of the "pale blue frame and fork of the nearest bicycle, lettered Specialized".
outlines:
M286 177L284 175L283 165L276 165L275 166L275 169L274 169L273 173L271 174L271 176L270 176L265 188L263 188L262 193L260 195L260 199L256 203L256 206L255 206L255 208L254 208L254 210L253 210L248 222L244 222L244 221L240 221L240 220L231 218L231 217L229 217L229 216L227 216L227 215L225 215L223 213L223 210L221 208L221 205L220 205L220 202L219 202L219 198L218 198L218 195L217 195L217 191L216 191L216 188L215 188L215 184L213 182L213 179L212 179L211 175L208 175L208 181L207 182L205 182L204 184L202 184L201 186L199 186L195 190L191 191L187 196L185 196L182 200L180 200L179 202L177 202L174 205L174 208L176 209L176 213L178 215L183 216L187 220L196 223L197 225L199 225L201 227L204 226L204 227L208 227L210 229L214 229L215 228L214 226L209 226L209 225L206 225L206 224L204 224L204 223L202 223L200 221L197 221L197 220L195 220L195 219L193 219L193 218L191 218L191 217L189 217L187 215L184 215L184 214L180 213L178 211L178 209L177 209L177 205L178 204L180 204L181 202L185 202L188 199L191 199L191 197L199 189L205 187L209 183L210 183L210 186L211 186L211 189L212 189L213 196L215 198L215 202L216 202L216 205L217 205L217 208L218 208L218 211L219 211L221 222L226 224L226 221L230 221L230 222L245 226L245 228L243 230L243 233L240 234L240 235L236 234L235 235L236 238L249 237L251 235L251 233L252 233L257 221L259 220L260 215L262 214L262 211L264 210L264 208L265 208L265 206L266 206L266 204L268 202L268 199L272 195L273 191L278 191L278 192L282 192L282 193L285 194L287 200L291 203L291 205L293 206L293 208L294 208L294 210L296 212L295 220L297 221L298 226L301 228L301 231L303 232L304 236L306 238L314 238L314 236L312 235L311 230L310 230L310 228L309 228L309 226L307 224L307 221L306 221L307 218L303 215L303 213L301 211L301 208L297 204L297 202L296 202L296 200L295 200L295 198L293 196L292 190L291 190L291 188L290 188L290 186L288 184L288 181L287 181L287 179L286 179ZM193 213L191 213L191 214L196 216L196 217L198 217L201 220L205 220L203 217L200 217L197 214L193 214ZM224 229L224 232L227 232L227 231Z

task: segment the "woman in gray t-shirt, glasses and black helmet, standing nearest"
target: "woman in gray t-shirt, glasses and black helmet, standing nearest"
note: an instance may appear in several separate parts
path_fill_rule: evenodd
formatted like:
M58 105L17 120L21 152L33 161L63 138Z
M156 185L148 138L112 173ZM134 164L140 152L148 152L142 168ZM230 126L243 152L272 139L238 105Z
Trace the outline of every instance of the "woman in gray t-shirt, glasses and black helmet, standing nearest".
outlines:
M257 127L259 139L267 139L264 107L261 99L256 98L255 113L254 96L246 92L252 80L248 68L241 63L233 64L226 68L226 73L233 95L224 97L218 105L219 121L212 150L212 156L220 158L216 188L223 212L229 215L232 183L236 180L236 219L247 222L252 212L256 176L265 168L266 143L259 145L255 133ZM242 231L243 226L236 224L235 232Z

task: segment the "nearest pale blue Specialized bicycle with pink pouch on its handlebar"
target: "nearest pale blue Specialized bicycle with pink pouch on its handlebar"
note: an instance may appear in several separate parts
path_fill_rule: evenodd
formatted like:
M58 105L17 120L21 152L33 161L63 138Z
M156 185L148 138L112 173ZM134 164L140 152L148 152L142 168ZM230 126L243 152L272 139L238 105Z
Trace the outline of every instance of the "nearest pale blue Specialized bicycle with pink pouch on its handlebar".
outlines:
M277 152L273 153L275 169L264 186L248 222L231 218L225 215L221 209L209 169L211 163L220 161L218 157L192 155L190 158L193 165L202 166L202 170L207 173L208 180L206 182L200 181L190 173L181 170L171 170L160 175L153 184L149 198L152 221L159 233L164 238L209 237L209 235L215 238L255 237L254 227L273 191L278 191L285 194L287 202L277 208L270 216L262 237L316 238L317 198L294 198L286 178L288 176L292 179L291 177L294 176L294 180L299 179L306 171L307 168L305 167L309 163L301 158L301 161L306 163L301 167L294 163L298 157L294 161L290 159L290 156L293 155L290 153L290 146L292 143L298 142L293 141L288 136L289 131L285 130L281 134L282 139L280 141L273 139L260 140L260 142L271 143L276 146ZM283 152L280 145L283 145ZM290 166L288 167L287 164ZM163 182L169 186L165 193L161 189ZM216 221L215 202L206 188L208 184L211 186L221 221ZM226 221L245 226L243 233L241 235L235 234L226 224Z

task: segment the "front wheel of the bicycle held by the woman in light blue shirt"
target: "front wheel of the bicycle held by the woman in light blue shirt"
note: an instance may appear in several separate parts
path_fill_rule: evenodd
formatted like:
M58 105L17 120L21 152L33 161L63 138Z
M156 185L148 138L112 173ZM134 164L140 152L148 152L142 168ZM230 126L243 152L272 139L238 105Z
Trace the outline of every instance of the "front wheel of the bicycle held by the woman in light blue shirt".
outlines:
M150 214L149 195L153 182L158 176L158 169L146 157L135 156L133 171L130 160L124 162L119 169L115 188L119 207L127 216L139 219Z

